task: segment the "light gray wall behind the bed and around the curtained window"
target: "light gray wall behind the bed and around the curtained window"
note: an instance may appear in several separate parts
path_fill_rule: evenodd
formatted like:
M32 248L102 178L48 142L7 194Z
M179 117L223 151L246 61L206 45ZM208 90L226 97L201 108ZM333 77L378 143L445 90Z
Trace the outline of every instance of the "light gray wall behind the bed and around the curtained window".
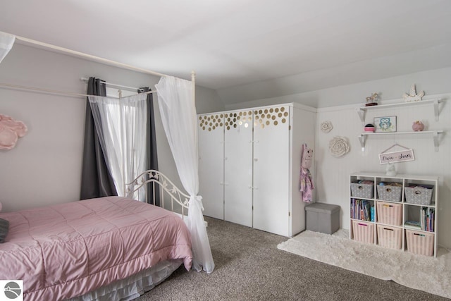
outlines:
M159 78L66 54L15 44L0 64L0 82L85 93L80 78L94 76L131 87L154 89ZM189 72L187 78L190 78ZM85 98L0 87L0 113L23 121L25 137L0 151L0 202L4 211L71 202L80 197ZM197 88L199 113L223 108L216 92ZM180 183L156 108L159 167Z

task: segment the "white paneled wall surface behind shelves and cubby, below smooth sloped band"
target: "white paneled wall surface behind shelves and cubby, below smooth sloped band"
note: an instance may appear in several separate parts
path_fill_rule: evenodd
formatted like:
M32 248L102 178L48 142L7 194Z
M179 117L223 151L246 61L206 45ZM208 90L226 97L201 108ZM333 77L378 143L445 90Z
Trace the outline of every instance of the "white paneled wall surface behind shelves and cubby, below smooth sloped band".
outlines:
M421 104L418 106L404 106L396 109L377 109L366 114L366 122L373 123L378 116L397 116L398 131L412 131L412 123L421 120L426 124L426 130L445 130L440 135L438 152L435 152L431 136L426 135L385 135L373 136L366 140L365 151L362 152L357 139L363 131L363 124L357 116L354 106L336 106L319 109L317 137L315 147L316 161L316 197L318 201L339 204L342 228L349 229L350 211L350 173L368 171L385 173L385 165L379 164L378 154L384 152L395 143L414 150L414 161L396 163L398 173L412 175L429 175L440 177L439 208L438 208L438 243L451 247L451 235L447 231L451 227L451 94L438 95L449 99L441 107L440 120L435 121L433 106ZM396 102L402 102L397 99ZM330 121L333 130L329 133L321 132L319 125L323 121ZM328 143L335 136L347 137L350 141L349 154L335 158L328 152ZM398 147L397 149L400 150Z

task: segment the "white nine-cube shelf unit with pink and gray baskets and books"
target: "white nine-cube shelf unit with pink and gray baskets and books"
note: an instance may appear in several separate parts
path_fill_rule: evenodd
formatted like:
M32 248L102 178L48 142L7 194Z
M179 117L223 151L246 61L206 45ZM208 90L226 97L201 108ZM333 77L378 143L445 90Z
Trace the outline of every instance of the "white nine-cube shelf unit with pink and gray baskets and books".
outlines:
M436 257L438 177L352 173L350 239Z

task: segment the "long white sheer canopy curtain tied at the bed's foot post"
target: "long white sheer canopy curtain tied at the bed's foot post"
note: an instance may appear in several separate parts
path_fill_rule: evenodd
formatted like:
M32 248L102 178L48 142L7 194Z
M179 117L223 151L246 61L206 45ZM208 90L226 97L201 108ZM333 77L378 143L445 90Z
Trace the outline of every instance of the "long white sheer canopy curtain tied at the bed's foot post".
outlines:
M199 162L197 154L197 121L192 82L165 76L155 85L163 128L177 166L182 185L190 195L188 218L193 262L197 271L211 273L214 261L206 235L202 197L199 192Z

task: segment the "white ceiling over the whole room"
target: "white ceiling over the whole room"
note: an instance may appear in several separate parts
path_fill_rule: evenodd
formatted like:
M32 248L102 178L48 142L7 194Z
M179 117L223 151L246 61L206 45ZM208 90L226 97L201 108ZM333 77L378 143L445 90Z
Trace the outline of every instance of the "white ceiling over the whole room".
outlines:
M451 66L449 0L15 0L0 31L195 70L226 105Z

